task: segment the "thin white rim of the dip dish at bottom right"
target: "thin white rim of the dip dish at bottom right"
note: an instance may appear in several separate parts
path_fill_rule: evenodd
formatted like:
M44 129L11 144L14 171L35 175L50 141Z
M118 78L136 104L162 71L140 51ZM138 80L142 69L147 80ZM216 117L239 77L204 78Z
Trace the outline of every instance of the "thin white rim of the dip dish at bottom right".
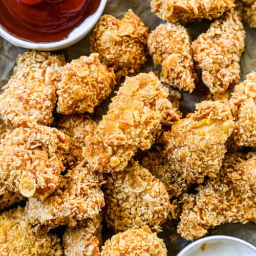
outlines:
M214 241L214 240L227 240L227 241L232 241L232 242L237 242L239 244L243 244L247 247L249 247L250 249L252 249L253 251L256 252L256 247L240 238L235 238L235 237L231 237L231 236L209 236L206 238L201 238L193 243L190 243L189 245L187 245L185 248L183 248L178 254L177 256L186 256L185 253L189 252L192 248L198 246L201 243L207 242L207 241Z

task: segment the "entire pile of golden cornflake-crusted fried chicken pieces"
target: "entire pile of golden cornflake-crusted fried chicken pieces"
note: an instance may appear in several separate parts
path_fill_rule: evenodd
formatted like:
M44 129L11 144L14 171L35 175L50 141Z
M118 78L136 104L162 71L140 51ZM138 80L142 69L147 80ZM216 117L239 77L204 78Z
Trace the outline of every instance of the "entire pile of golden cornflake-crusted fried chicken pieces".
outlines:
M100 18L90 56L19 55L0 95L0 254L167 255L167 220L190 241L255 222L256 72L239 83L255 5L152 0L167 23L149 35L129 10ZM212 23L191 41L184 25L201 19ZM159 77L139 73L148 53ZM202 83L209 95L182 117L178 90Z

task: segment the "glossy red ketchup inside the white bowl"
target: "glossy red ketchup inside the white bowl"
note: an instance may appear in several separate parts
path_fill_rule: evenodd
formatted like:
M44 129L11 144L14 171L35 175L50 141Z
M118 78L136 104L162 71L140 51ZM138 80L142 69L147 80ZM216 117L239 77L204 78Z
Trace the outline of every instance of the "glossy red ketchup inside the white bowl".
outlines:
M0 0L0 24L26 41L60 41L99 4L100 0Z

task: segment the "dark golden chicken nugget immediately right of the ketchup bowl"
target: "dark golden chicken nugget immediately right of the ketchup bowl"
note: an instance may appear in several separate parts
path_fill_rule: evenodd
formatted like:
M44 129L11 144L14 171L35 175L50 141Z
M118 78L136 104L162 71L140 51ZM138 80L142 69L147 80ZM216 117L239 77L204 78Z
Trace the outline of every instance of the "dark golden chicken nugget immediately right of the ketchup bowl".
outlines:
M130 9L121 20L103 15L91 37L91 52L98 52L107 66L117 71L117 77L139 72L146 61L147 30Z

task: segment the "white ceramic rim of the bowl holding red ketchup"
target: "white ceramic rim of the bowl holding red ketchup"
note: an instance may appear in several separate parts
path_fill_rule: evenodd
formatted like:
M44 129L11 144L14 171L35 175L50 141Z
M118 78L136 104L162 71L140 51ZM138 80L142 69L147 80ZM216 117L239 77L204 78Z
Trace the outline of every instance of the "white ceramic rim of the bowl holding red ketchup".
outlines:
M69 47L74 45L76 42L80 41L84 36L86 36L98 22L104 8L106 5L106 0L101 0L99 8L91 16L87 17L79 27L75 28L67 38L58 41L58 42L47 42L47 43L36 43L28 42L22 39L19 39L11 34L9 34L1 25L0 25L0 36L4 37L6 40L11 42L13 45L18 47L23 47L27 49L41 50L41 51L54 51Z

